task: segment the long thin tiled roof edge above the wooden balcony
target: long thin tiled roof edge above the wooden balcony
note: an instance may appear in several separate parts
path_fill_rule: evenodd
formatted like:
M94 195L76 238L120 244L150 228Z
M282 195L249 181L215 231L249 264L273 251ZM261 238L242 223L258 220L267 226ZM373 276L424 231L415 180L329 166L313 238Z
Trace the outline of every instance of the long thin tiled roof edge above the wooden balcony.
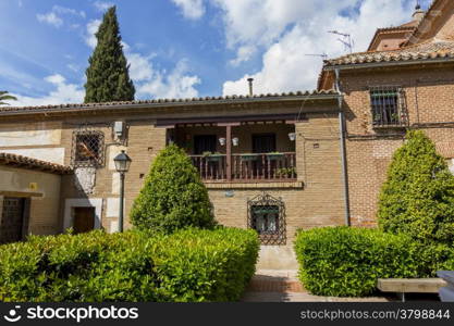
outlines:
M29 111L42 111L42 110L61 110L61 109L108 109L111 106L125 106L134 108L135 105L150 104L152 106L162 106L168 105L172 106L173 104L187 104L187 105L197 105L205 104L208 102L213 103L225 103L225 102L247 102L255 100L267 100L267 99L279 99L279 98L290 98L290 97L319 97L319 96L335 96L334 90L312 90L312 91L295 91L295 92L283 92L283 93L267 93L267 95L255 95L250 96L225 96L225 97L205 97L205 98L192 98L192 99L156 99L156 100L140 100L140 101L124 101L124 102L106 102L106 103L78 103L78 104L59 104L59 105L42 105L42 106L0 106L0 114L7 112L24 112Z

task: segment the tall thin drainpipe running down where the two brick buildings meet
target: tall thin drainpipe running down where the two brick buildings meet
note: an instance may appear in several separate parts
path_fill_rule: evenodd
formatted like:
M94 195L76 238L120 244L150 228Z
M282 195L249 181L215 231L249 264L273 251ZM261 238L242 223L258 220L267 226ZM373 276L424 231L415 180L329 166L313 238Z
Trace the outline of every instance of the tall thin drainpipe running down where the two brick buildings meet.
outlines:
M344 183L344 201L345 201L345 225L351 226L351 216L349 216L349 190L348 190L348 170L347 170L347 155L346 155L346 143L345 143L345 113L342 108L343 96L340 87L340 73L339 68L334 70L335 73L335 83L334 87L339 93L338 103L339 103L339 130L341 134L341 158L342 158L342 178Z

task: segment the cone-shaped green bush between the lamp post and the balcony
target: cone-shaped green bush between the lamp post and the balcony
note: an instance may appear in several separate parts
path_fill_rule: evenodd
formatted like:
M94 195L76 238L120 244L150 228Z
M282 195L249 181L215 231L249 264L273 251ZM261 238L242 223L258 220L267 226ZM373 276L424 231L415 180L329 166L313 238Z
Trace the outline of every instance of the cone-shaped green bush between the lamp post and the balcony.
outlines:
M174 145L156 158L130 216L139 229L164 233L214 225L207 188L191 159Z

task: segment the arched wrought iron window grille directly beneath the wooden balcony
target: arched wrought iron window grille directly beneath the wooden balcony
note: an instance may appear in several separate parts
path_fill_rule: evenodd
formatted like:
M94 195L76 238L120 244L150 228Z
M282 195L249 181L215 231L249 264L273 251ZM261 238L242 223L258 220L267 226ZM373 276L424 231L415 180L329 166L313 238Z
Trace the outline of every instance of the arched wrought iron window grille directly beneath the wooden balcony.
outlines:
M285 205L281 199L259 195L247 202L248 227L255 229L262 244L285 244Z

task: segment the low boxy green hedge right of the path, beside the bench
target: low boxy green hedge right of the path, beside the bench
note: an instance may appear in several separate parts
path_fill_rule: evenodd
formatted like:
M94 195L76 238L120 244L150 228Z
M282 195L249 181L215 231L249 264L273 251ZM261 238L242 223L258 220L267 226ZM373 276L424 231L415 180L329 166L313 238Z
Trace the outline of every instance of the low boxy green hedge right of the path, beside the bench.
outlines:
M406 236L377 229L324 227L299 231L295 240L299 278L318 296L363 297L378 278L417 277L417 248Z

